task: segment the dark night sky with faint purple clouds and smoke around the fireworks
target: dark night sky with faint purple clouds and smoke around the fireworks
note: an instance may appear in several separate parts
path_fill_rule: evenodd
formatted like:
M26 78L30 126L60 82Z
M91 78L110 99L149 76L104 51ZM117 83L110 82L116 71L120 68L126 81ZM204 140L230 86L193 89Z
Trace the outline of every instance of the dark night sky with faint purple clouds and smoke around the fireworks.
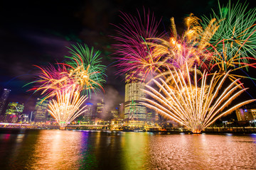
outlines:
M253 1L247 2L250 7L256 6ZM124 101L124 77L114 74L110 47L114 43L110 35L115 35L112 24L122 22L120 11L137 16L137 10L149 9L158 21L161 19L161 31L169 32L171 17L182 30L184 17L189 13L208 16L211 8L218 8L218 1L1 1L0 8L0 95L4 88L11 89L9 101L24 103L24 113L29 113L40 96L26 92L31 86L23 87L35 79L38 69L33 64L63 62L67 47L76 42L102 52L102 63L108 66L105 102L112 107ZM255 97L252 81L244 82Z

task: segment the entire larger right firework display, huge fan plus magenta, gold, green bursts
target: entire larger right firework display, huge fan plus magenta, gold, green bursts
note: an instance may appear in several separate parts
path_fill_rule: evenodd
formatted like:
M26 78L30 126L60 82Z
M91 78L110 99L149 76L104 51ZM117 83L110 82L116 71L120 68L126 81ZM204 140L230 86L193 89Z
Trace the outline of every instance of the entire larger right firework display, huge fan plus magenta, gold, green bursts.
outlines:
M152 79L156 89L147 84L148 90L144 90L153 99L144 98L143 104L193 132L201 132L221 116L255 101L227 108L246 91L238 78L250 78L237 71L256 68L250 63L256 60L256 8L245 13L246 8L240 3L231 7L229 2L224 11L220 8L220 16L204 17L203 24L191 14L184 20L186 29L181 36L171 18L169 38L142 36L142 22L134 24L134 18L125 14L126 23L117 27L121 36L114 38L119 41L114 46L116 54L122 56L118 59L119 73L148 75L149 70L157 71ZM231 82L223 89L226 79Z

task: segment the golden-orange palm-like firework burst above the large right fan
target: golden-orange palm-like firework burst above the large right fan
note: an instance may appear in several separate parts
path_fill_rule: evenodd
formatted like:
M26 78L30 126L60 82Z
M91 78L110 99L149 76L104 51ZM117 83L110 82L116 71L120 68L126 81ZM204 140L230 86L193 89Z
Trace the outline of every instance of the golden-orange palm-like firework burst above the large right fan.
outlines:
M218 29L218 23L213 19L208 26L203 29L200 19L191 14L184 20L186 30L181 38L177 35L174 18L171 18L172 35L170 38L152 38L156 42L146 42L152 49L152 56L165 59L164 67L174 69L189 69L195 65L208 67L204 63L211 57L211 52L207 50L208 41Z

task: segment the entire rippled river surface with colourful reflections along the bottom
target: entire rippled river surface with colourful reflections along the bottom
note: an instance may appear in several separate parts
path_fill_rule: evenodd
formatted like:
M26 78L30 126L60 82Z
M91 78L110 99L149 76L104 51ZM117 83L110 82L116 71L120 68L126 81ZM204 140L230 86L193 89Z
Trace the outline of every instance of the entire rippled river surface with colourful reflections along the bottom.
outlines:
M256 169L256 134L1 130L0 169Z

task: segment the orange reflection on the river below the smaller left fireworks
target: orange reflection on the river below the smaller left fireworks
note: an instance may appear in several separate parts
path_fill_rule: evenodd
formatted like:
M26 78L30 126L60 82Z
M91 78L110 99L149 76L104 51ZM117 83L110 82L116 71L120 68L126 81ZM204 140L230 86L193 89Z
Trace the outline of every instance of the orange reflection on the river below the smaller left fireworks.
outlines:
M78 167L82 133L41 130L28 169L73 169Z

